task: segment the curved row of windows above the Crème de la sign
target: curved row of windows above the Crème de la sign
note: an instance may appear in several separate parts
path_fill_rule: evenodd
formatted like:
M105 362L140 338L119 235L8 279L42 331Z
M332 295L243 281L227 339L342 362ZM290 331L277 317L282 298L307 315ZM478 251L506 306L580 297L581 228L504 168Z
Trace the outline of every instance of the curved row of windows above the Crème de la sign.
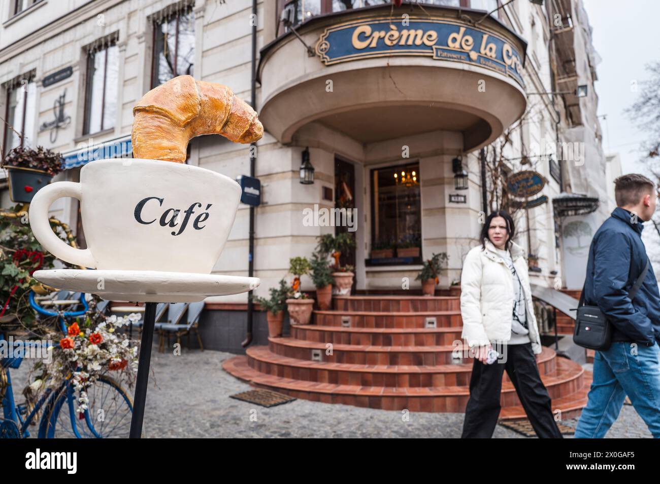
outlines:
M277 19L279 24L277 35L279 36L289 31L289 28L279 21L282 18L282 11L286 11L286 16L290 19L291 26L295 28L315 16L364 9L377 5L390 5L392 2L391 0L289 0L278 3ZM486 12L493 11L502 5L500 0L419 0L414 3L437 5L438 7L461 7ZM500 18L500 10L494 12L492 15Z

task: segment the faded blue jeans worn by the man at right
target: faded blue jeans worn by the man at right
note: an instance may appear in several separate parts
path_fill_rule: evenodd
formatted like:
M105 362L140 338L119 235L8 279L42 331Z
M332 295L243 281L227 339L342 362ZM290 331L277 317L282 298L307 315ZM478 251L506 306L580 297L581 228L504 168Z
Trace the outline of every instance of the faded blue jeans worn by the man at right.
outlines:
M626 394L655 439L660 438L660 346L612 342L593 358L589 402L582 410L576 439L601 439L618 417Z

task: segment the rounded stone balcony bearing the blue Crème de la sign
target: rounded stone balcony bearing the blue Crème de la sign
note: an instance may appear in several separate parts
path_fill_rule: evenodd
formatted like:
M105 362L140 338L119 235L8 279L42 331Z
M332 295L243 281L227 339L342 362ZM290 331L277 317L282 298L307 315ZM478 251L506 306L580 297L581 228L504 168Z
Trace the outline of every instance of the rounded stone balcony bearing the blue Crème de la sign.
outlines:
M265 129L282 144L312 121L362 143L449 130L466 152L500 136L525 111L525 41L484 11L411 9L406 23L389 5L322 14L296 28L300 38L266 45Z

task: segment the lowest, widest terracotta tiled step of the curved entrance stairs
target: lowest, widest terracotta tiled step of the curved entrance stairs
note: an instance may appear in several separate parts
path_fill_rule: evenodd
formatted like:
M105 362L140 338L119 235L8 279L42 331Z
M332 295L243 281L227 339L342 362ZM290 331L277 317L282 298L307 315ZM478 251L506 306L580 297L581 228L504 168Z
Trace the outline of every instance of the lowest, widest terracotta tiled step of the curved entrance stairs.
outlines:
M338 383L319 383L313 381L300 381L275 375L265 375L249 367L248 357L235 356L222 363L222 367L244 381L296 398L304 398L317 402L353 405L367 408L380 408L383 410L403 410L411 412L464 412L469 398L467 387L367 387L362 385L344 385ZM512 392L511 389L505 390ZM564 418L572 408L584 405L580 399L581 392L574 396L566 396L553 401L552 408L559 408L566 412ZM514 392L515 393L515 392ZM578 402L576 404L576 401ZM513 407L515 409L515 406ZM515 410L506 412L502 408L503 418L521 418Z

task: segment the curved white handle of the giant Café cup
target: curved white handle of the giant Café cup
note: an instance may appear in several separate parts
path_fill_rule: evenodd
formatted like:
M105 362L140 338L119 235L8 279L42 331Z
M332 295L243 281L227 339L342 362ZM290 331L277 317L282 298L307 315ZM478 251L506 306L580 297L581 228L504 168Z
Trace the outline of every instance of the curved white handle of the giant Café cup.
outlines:
M81 184L55 182L44 186L32 198L28 219L32 233L44 249L63 261L96 269L96 261L89 249L76 249L55 235L48 221L48 209L58 198L73 197L81 200Z

